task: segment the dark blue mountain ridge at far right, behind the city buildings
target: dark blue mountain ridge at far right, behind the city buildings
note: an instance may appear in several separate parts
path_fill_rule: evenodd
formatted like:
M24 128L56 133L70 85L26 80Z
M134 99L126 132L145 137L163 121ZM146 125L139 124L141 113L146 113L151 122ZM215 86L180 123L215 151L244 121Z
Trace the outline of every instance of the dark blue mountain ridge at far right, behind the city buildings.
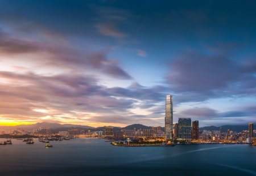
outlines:
M241 132L243 130L248 130L248 125L223 125L220 126L222 128L223 132L226 132L228 130L231 131L237 131L237 132ZM207 127L201 127L200 130L208 130L208 131L219 131L220 127L216 127L216 126L207 126Z

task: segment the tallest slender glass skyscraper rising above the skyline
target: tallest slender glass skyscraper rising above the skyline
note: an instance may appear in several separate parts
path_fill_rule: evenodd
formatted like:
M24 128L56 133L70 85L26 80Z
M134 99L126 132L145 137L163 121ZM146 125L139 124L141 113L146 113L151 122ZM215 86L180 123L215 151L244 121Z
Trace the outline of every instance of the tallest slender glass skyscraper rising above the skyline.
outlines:
M172 139L173 121L174 121L174 114L172 109L172 96L166 95L166 117L165 117L166 139Z

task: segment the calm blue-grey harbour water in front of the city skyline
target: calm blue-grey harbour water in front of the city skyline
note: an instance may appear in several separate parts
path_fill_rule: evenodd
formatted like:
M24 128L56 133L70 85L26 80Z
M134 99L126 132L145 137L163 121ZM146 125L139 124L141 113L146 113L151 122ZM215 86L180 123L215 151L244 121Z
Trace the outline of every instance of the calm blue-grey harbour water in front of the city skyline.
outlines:
M3 139L0 139L2 141ZM0 145L0 175L256 175L256 147L176 145L116 147L104 139L13 139Z

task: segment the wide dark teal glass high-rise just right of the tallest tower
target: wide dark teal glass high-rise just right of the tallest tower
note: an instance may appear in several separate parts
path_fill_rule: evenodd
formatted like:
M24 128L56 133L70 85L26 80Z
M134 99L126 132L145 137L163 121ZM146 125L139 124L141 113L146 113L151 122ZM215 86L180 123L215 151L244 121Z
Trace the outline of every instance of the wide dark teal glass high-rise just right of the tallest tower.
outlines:
M179 139L191 140L191 118L179 118L178 128Z

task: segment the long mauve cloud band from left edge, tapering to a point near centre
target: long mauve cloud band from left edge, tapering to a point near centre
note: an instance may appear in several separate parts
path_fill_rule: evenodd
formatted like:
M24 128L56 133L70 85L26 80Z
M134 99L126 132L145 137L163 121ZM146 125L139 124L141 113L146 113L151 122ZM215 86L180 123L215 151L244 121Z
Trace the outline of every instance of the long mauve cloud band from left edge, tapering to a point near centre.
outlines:
M116 79L132 79L131 76L118 66L117 60L107 59L104 51L85 52L70 48L68 45L55 45L49 42L20 40L0 33L0 51L2 54L34 54L32 63L44 66L84 70L84 68L103 72ZM40 53L40 55L38 54ZM9 57L9 59L16 59ZM19 61L27 57L19 58ZM41 67L42 68L42 67ZM31 69L31 68L30 68Z

